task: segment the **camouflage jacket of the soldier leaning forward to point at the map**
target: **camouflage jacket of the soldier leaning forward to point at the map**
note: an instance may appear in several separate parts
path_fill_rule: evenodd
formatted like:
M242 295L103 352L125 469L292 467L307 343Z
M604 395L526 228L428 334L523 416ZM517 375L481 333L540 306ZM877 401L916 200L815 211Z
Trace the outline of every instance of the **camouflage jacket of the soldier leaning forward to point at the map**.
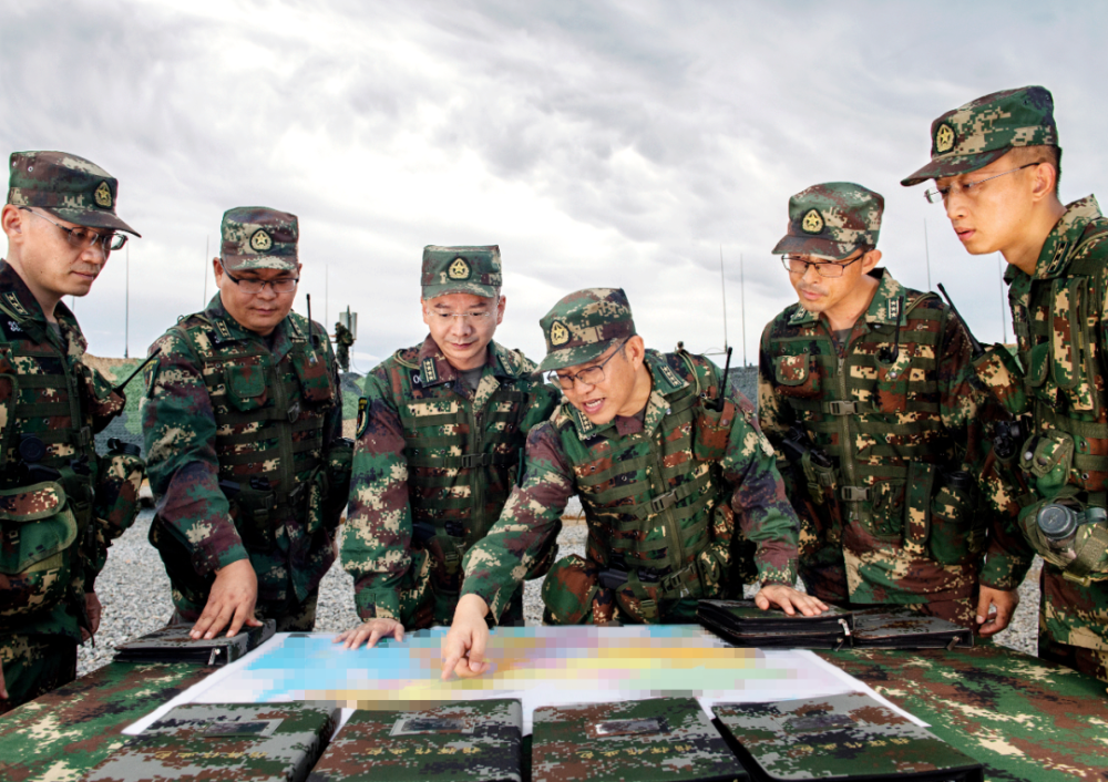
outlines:
M755 547L753 563L758 577L763 582L793 584L797 560L797 517L784 496L784 485L777 471L773 449L762 436L755 420L753 407L733 385L727 399L737 413L725 431L709 432L701 429L696 414L685 420L670 416L676 425L663 431L663 421L670 412L671 397L704 389L714 397L717 391L709 378L719 370L708 359L680 353L646 352L646 367L654 381L640 428L629 425L637 420L617 418L603 426L594 426L568 401L563 401L558 413L551 421L536 426L527 435L526 473L522 486L512 492L504 513L490 534L465 557L464 593L480 595L490 606L494 618L509 605L523 574L538 559L561 529L562 513L570 497L577 494L588 521L586 557L601 565L608 565L618 552L625 555L628 567L648 565L647 557L670 560L667 546L673 539L684 539L688 534L700 534L690 526L704 526L708 547L717 562L732 567L731 552L741 551L735 536L736 517L741 526L741 541ZM689 387L693 387L691 389ZM674 411L676 412L676 410ZM698 439L699 438L699 439ZM694 445L684 443L694 440ZM574 443L577 441L579 447ZM659 443L661 451L658 482L653 483L648 454L650 443ZM701 446L705 451L701 451ZM635 484L645 492L624 488L625 474L615 474L607 484L585 481L595 476L604 480L605 467L596 460L584 461L597 451L619 453L634 460ZM691 451L691 457L690 453ZM710 451L711 456L700 459ZM575 461L571 454L582 461ZM717 455L720 454L720 455ZM612 460L608 460L609 462ZM607 470L618 466L609 464ZM710 475L708 473L711 473ZM618 482L619 485L613 486ZM654 511L645 518L636 517L639 508L661 500L663 492L655 487L695 487L693 493L673 497L664 503L667 516ZM711 519L705 524L701 514L691 512L710 493L724 497L719 505L710 505L705 514ZM619 494L615 501L602 496ZM653 500L652 500L653 497ZM671 497L667 497L671 498ZM625 507L626 514L619 513ZM715 511L718 508L719 513ZM671 521L673 519L673 521ZM676 527L674 526L676 524ZM644 532L645 531L645 532ZM681 544L676 544L680 546ZM749 548L749 547L748 547ZM693 555L694 552L687 552ZM634 558L633 558L634 557ZM683 559L681 564L686 564ZM657 575L665 577L669 572ZM664 580L664 578L663 578Z

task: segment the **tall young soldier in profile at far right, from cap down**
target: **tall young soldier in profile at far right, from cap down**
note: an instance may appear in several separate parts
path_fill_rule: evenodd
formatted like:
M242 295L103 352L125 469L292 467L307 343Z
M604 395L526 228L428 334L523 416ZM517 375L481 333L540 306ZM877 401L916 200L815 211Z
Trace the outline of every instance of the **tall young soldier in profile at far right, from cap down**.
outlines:
M931 140L931 162L902 184L934 179L927 199L966 250L1008 261L1019 362L997 346L975 367L1023 416L1020 480L999 494L1046 560L1039 656L1108 681L1108 219L1092 196L1059 200L1054 100L1040 86L948 111ZM1058 534L1051 514L1080 523Z

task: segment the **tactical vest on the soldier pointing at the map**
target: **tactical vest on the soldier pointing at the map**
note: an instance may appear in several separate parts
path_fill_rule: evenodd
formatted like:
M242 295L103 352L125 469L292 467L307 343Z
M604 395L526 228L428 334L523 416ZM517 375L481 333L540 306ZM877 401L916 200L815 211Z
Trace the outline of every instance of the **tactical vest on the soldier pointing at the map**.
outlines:
M701 388L716 383L715 373L705 372L702 387L699 373L696 384L683 383L653 352L655 389L667 405L653 434L588 435L588 419L567 401L554 424L588 522L588 549L599 564L625 568L635 591L653 584L660 598L712 597L718 584L704 583L697 557L711 543L712 513L727 496L722 452L698 456L696 421ZM702 457L708 455L715 457Z

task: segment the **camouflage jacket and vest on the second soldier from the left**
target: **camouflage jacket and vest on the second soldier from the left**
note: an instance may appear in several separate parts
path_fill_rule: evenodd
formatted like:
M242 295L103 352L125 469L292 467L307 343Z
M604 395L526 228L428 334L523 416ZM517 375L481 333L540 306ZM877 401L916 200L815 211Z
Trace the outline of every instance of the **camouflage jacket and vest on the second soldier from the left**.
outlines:
M248 557L259 601L287 600L289 582L302 601L318 585L342 511L320 497L342 442L326 333L312 323L309 338L308 320L289 313L267 339L239 326L216 294L151 346L162 353L147 372L142 421L163 560L174 546L187 569L208 576ZM176 589L192 574L175 575L182 563L172 558Z

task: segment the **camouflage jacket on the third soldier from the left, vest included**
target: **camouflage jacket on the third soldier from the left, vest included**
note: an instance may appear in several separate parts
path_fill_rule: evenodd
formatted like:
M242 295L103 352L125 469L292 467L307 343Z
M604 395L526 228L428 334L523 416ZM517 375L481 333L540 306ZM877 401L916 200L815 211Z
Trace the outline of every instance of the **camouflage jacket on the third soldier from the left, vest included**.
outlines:
M526 357L496 342L489 351L476 391L430 336L366 378L342 536L363 619L401 616L413 549L434 537L433 556L443 559L456 556L443 545L464 551L484 536L516 482L527 432L557 403L558 391L532 375ZM439 587L456 594L460 567L435 568Z

